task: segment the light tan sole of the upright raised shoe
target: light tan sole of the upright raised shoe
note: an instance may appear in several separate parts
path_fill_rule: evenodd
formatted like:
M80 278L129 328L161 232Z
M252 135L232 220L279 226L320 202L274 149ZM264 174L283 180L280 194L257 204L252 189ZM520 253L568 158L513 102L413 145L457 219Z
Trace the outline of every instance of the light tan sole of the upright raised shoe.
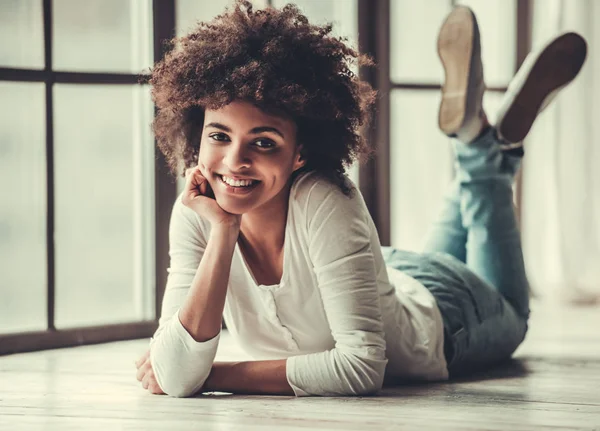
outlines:
M438 36L438 56L445 74L438 122L442 132L450 136L462 126L467 109L473 20L468 8L457 7L442 24Z

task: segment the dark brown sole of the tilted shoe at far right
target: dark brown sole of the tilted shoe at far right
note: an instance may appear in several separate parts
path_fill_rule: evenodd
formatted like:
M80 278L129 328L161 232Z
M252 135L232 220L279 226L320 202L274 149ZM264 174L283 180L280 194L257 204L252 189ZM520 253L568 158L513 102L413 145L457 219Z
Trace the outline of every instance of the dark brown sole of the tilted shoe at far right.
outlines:
M525 139L546 96L577 76L586 54L586 42L576 33L558 37L540 53L498 125L498 131L508 142Z

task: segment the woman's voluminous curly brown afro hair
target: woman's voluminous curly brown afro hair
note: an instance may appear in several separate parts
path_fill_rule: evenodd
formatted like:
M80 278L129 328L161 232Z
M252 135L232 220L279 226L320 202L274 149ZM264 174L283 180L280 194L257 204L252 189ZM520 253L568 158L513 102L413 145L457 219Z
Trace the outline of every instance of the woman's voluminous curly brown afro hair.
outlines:
M350 68L373 62L331 30L291 4L254 11L237 0L174 38L150 77L158 108L152 126L172 173L198 163L204 110L243 100L295 121L306 164L294 176L316 171L349 194L346 168L372 153L360 132L376 98Z

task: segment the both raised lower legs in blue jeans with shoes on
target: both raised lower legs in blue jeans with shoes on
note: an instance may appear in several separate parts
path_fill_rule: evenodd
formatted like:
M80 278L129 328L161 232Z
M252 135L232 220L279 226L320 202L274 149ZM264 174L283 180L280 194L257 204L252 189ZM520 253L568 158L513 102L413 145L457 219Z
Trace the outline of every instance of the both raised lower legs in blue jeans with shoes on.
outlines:
M425 251L441 251L496 288L521 316L529 314L512 181L523 155L522 140L586 58L585 40L566 33L530 53L504 95L495 128L483 111L485 90L479 27L473 12L458 6L438 35L444 66L440 129L456 137L456 180L434 224Z

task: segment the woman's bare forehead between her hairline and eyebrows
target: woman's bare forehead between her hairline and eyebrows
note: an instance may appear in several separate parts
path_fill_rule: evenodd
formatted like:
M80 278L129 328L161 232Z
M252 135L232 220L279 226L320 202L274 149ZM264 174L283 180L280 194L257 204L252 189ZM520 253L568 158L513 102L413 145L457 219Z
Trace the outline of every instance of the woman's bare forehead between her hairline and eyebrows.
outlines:
M205 124L217 122L232 130L250 130L255 127L269 126L284 129L288 132L295 131L296 124L293 120L267 114L248 102L231 102L219 109L206 109L204 113Z

